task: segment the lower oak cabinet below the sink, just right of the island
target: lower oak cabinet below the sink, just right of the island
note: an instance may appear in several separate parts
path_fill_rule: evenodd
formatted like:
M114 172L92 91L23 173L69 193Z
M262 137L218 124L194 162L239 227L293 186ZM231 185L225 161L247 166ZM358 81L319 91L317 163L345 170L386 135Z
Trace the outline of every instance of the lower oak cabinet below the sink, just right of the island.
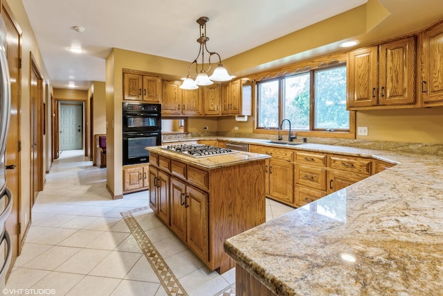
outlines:
M294 150L249 145L249 151L252 153L271 155L271 159L266 159L264 166L266 173L266 196L273 200L293 205Z

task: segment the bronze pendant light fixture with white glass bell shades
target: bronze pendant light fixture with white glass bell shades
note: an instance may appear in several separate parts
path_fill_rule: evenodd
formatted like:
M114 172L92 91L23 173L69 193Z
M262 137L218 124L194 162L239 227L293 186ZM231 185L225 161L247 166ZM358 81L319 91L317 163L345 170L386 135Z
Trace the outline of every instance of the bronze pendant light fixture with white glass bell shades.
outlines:
M197 58L195 58L194 62L189 65L188 76L181 84L181 89L197 89L199 86L204 85L212 85L214 81L216 82L224 82L232 79L232 76L228 74L228 71L221 64L220 55L216 52L208 51L208 47L206 47L206 42L209 41L209 37L206 36L206 23L209 21L208 17L200 17L197 19L197 24L200 25L200 37L197 39L197 42L200 44L199 54ZM209 54L207 68L205 68L205 51ZM197 62L201 55L201 64ZM206 72L210 70L210 57L213 55L217 55L219 57L219 64L217 68L215 68L213 75L208 76ZM195 64L195 71L197 73L197 78L195 80L190 76L190 70L192 64Z

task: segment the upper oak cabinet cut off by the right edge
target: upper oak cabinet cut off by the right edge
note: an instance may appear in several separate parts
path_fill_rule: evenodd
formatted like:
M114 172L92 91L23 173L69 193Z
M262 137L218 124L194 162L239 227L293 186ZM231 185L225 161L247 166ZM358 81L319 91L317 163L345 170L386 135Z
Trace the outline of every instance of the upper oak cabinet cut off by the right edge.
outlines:
M421 93L424 107L443 105L443 23L422 34Z

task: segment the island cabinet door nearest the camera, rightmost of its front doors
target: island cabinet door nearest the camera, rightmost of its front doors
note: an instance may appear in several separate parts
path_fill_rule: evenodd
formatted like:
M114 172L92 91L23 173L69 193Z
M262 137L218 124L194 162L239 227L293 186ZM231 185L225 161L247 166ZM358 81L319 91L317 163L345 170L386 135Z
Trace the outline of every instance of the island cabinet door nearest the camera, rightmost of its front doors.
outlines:
M185 207L188 246L204 262L208 261L208 194L192 186L186 188Z

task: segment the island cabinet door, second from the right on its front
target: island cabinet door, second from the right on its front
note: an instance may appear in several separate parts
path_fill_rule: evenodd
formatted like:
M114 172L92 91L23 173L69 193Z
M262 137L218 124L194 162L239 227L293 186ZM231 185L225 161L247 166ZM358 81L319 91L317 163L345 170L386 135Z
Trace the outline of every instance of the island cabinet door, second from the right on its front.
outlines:
M171 177L171 229L186 242L186 184Z

